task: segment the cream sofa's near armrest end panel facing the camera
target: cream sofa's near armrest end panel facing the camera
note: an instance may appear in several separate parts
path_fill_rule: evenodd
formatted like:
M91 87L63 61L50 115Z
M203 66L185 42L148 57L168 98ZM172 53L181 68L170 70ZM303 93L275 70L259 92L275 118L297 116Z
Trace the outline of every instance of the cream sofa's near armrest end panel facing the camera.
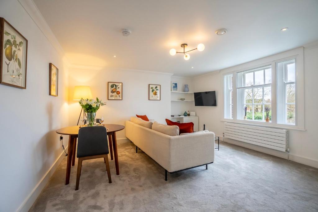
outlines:
M214 133L173 136L170 140L169 172L214 161Z

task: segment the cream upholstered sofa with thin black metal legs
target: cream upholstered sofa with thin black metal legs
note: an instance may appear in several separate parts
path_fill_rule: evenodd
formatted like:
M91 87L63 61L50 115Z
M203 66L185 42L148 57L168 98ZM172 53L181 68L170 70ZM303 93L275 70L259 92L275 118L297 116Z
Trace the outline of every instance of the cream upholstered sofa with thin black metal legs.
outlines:
M149 127L149 125L147 126ZM213 163L214 133L169 136L126 121L126 137L170 173Z

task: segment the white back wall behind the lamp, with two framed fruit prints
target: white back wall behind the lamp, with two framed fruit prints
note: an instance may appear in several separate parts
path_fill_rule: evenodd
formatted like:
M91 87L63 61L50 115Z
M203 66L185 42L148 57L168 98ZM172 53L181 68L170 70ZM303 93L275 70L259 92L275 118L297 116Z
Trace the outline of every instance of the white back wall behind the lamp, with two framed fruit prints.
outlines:
M107 100L107 82L123 83L123 100ZM148 100L148 84L161 85L161 100ZM155 119L160 123L166 123L165 119L170 117L169 74L112 68L101 68L100 70L70 68L70 125L76 125L80 113L78 101L72 100L76 85L90 86L94 98L98 97L103 102L107 102L96 114L97 118L104 117L105 124L125 125L125 120L130 120L130 117L136 114L146 114L149 119ZM117 140L126 138L125 130L116 135Z

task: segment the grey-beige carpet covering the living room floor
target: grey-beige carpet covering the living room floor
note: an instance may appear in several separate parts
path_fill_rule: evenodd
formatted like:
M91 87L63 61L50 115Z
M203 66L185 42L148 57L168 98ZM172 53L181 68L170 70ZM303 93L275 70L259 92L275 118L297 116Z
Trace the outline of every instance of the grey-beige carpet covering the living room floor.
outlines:
M65 185L66 157L30 211L318 211L318 169L228 143L215 161L175 174L132 143L118 145L120 175L110 161L84 161ZM77 160L76 160L77 161Z

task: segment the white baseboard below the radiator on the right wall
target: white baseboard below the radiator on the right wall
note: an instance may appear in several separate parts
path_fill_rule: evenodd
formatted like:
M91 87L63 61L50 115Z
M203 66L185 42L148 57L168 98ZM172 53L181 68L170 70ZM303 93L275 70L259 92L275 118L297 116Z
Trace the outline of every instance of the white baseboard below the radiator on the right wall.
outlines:
M252 145L252 144L248 144L248 143L244 143L244 142L237 141L237 140L232 140L232 139L229 139L229 138L225 139L225 142L228 142L228 143L240 146L240 147L245 147L245 148L248 148L248 149L253 149L253 150L258 151L258 152L263 152L263 153L266 153L266 154L274 155L276 157L287 159L287 153L284 153L284 152L275 151L275 150L272 150L272 149L268 149L268 148L264 148L264 147L260 147L260 146L256 146L256 145ZM289 154L289 160L297 162L297 163L301 163L301 164L304 164L304 165L307 165L307 166L318 168L318 161L314 160L314 159L302 157L302 156L295 155L295 154Z

